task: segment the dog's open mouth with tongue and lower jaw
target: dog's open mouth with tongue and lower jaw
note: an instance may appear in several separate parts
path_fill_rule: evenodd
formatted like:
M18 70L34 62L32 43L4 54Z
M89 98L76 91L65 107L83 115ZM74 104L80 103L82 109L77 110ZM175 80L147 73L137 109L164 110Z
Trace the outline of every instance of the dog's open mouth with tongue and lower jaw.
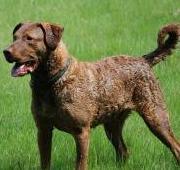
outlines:
M24 76L28 73L32 73L37 67L37 62L35 60L26 61L23 63L16 62L11 70L11 75L13 77Z

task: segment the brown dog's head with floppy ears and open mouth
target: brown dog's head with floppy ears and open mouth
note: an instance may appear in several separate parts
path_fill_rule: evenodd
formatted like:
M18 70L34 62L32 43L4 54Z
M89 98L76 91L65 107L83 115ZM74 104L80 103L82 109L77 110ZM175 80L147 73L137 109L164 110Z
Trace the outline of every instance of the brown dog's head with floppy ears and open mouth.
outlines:
M61 39L63 28L49 23L20 23L13 30L13 43L3 51L9 63L15 63L14 77L34 72L54 51Z

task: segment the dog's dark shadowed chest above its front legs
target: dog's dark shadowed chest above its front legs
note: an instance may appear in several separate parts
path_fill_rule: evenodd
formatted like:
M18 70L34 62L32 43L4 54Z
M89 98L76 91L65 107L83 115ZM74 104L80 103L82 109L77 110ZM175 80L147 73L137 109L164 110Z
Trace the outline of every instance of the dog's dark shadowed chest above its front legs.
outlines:
M87 119L79 112L73 112L71 95L54 96L52 91L33 93L33 114L49 118L54 127L66 132L77 131Z

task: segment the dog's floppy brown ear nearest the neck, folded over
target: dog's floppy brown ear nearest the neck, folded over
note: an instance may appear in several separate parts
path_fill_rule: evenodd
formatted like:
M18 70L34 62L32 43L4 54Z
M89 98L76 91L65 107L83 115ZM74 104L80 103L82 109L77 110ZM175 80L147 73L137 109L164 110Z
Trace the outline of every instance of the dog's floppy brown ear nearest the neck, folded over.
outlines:
M55 24L40 23L44 32L45 44L50 50L55 50L62 36L64 28Z

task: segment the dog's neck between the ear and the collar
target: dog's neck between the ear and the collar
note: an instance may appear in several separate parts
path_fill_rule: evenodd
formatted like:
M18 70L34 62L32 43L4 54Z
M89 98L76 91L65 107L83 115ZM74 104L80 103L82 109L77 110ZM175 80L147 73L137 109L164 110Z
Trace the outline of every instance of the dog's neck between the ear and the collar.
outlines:
M31 74L31 82L46 86L47 82L54 79L54 77L55 79L56 77L60 78L70 65L69 59L66 46L60 41L54 51L48 52L46 61L41 63L39 68Z

